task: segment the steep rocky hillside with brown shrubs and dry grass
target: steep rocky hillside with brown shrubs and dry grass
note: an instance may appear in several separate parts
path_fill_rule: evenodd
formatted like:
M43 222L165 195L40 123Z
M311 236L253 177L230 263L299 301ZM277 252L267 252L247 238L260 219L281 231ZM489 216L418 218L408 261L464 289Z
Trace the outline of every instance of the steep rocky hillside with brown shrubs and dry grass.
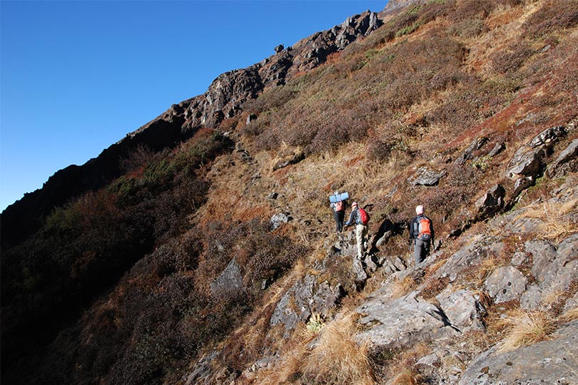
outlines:
M577 384L577 26L392 1L59 172L2 214L3 381Z

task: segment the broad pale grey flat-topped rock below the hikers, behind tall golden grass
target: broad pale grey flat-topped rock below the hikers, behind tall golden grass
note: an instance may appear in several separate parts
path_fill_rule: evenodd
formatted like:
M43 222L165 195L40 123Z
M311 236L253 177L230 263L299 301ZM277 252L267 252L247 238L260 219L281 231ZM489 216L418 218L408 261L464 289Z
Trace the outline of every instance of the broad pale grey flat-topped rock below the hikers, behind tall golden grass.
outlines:
M377 346L402 346L428 340L446 339L459 334L435 304L419 302L417 292L390 300L377 296L356 309L363 314L359 323L364 331L359 340Z

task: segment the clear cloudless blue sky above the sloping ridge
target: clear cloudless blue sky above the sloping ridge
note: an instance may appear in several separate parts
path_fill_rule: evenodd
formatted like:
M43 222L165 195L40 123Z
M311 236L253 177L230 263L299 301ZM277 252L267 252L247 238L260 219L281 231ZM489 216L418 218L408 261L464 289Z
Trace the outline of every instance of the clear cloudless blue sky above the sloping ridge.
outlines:
M387 0L0 0L0 211L220 73Z

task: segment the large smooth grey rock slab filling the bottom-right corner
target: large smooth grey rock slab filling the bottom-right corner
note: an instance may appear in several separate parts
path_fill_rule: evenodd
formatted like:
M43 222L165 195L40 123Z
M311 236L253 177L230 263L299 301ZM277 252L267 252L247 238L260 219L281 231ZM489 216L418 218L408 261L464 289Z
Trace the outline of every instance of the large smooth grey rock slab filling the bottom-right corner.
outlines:
M506 353L495 348L477 356L460 385L577 384L578 321L560 327L551 341Z

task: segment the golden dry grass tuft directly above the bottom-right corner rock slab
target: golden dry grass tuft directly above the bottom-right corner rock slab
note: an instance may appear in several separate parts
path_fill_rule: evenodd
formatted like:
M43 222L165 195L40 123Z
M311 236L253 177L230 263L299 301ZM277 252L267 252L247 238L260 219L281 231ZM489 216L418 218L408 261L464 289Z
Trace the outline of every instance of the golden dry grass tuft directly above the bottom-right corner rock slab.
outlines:
M505 353L553 339L557 323L545 312L516 310L495 324L503 330L504 338L497 344L496 353Z

